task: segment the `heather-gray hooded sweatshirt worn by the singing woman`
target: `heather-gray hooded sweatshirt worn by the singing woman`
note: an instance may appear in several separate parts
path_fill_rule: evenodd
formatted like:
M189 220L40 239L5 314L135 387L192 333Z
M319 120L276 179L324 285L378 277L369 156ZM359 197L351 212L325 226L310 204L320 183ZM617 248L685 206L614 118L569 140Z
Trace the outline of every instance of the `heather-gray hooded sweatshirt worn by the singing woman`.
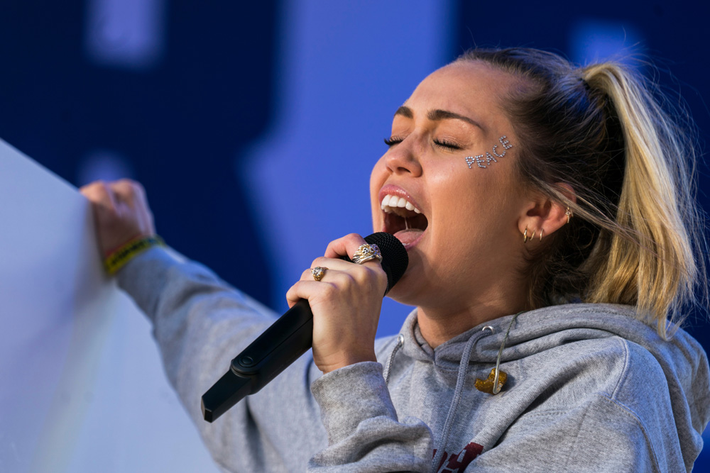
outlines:
M118 280L153 322L168 378L225 471L681 472L702 448L704 351L683 330L662 340L631 307L541 308L436 349L415 311L377 341L380 362L321 375L308 353L210 424L200 396L275 314L157 247ZM486 394L475 380L509 326L508 380Z

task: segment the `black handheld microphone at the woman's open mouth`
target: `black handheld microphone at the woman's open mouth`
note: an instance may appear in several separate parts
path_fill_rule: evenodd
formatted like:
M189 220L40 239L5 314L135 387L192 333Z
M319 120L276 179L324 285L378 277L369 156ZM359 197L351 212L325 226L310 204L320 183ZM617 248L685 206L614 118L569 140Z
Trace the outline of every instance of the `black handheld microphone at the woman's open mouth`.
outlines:
M389 233L373 233L365 241L380 249L382 269L387 274L386 295L407 269L407 250ZM351 262L349 257L342 259ZM301 299L236 355L229 371L202 395L204 420L213 422L245 396L258 392L312 344L313 313L308 301Z

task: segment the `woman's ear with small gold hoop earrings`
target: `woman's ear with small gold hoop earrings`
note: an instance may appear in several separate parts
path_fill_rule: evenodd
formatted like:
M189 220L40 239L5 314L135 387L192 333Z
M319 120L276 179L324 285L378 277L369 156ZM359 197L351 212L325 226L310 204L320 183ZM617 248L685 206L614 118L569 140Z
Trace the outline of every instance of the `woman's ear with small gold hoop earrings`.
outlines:
M577 196L572 186L558 182L555 188L564 199L577 203ZM536 193L518 218L518 230L521 235L527 236L528 240L540 242L546 235L552 235L567 224L569 216L572 216L571 213L567 213L568 211L569 207L563 204L562 199L550 199L548 196Z

